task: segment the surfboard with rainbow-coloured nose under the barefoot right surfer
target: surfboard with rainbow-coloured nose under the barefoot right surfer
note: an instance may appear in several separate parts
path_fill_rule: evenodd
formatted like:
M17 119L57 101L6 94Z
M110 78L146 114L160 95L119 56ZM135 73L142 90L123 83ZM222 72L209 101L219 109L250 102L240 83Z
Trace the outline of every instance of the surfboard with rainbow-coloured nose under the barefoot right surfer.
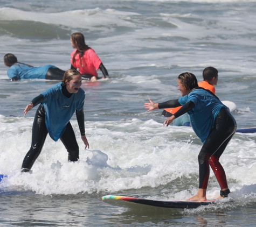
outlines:
M102 201L111 202L111 201L122 201L128 203L136 203L136 204L144 204L150 205L154 207L162 207L162 208L175 208L175 209L193 209L197 208L200 205L209 205L216 202L216 200L207 200L206 202L195 202L195 201L176 201L176 200L148 200L146 198L136 198L136 197L128 197L128 196L120 196L120 195L105 195L102 197Z

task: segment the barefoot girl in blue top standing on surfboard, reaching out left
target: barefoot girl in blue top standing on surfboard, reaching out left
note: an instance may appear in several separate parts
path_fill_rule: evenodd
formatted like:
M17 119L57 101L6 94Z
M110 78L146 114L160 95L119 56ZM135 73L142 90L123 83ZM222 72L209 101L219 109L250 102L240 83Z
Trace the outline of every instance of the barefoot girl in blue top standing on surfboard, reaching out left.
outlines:
M167 126L177 117L188 112L192 129L201 139L203 147L198 155L199 189L189 201L206 201L206 188L210 175L210 167L220 185L220 197L227 197L230 193L227 187L226 174L219 163L219 157L236 132L236 120L218 97L211 91L199 88L196 76L192 73L182 73L177 79L178 90L182 97L164 103L145 103L146 109L174 108L182 105L174 115L165 120Z

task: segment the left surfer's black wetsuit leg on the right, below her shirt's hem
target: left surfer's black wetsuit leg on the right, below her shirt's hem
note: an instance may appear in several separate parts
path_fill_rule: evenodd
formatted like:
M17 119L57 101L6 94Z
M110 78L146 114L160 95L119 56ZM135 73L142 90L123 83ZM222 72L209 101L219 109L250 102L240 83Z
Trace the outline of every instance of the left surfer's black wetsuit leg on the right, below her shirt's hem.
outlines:
M79 146L75 133L70 122L67 123L66 130L60 137L68 152L68 161L78 161L79 159Z

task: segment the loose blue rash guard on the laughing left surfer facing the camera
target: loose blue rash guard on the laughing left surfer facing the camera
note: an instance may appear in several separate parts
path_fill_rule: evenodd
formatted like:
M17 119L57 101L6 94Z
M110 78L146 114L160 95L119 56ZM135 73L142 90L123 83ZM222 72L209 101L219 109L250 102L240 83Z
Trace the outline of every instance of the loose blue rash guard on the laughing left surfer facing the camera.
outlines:
M50 137L57 141L66 129L75 110L80 111L84 107L85 91L79 88L70 98L63 95L61 82L47 89L41 95L45 109L45 123Z

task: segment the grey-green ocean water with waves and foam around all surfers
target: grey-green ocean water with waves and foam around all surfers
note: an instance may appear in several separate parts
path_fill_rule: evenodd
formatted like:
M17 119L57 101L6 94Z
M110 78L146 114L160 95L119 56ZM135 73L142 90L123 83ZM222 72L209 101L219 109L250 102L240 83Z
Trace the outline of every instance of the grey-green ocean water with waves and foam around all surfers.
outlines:
M161 110L147 112L148 98L180 97L177 76L202 79L219 71L216 95L236 103L238 128L256 122L255 1L5 1L0 2L1 226L255 226L256 134L236 133L220 158L231 194L192 210L130 209L103 195L184 200L198 188L202 143L190 127L162 127ZM46 138L32 167L20 173L31 143L33 97L58 81L9 81L3 56L33 66L70 68L70 36L82 32L110 79L82 82L89 149L77 120L71 124L80 160L67 162L61 141ZM101 75L101 72L99 72ZM211 173L207 197L219 195Z

